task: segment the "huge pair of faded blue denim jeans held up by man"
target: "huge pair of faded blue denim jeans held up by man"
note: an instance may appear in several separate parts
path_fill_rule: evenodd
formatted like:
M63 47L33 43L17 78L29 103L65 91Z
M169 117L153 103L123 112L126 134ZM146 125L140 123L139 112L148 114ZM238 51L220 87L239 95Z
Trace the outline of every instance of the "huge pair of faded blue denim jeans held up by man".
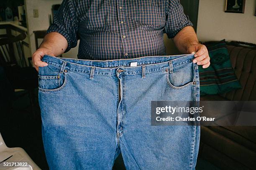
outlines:
M151 100L199 100L193 58L45 55L38 96L50 169L111 170L120 152L128 170L195 169L199 126L151 126Z

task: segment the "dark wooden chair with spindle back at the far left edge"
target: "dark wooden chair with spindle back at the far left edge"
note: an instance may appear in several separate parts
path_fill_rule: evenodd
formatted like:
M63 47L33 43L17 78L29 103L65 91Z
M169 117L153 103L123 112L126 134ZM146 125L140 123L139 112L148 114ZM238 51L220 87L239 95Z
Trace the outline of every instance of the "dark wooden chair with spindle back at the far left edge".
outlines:
M25 33L15 37L0 38L0 67L2 67L1 70L6 74L13 89L22 89L27 92L25 94L29 95L31 111L35 114L34 89L38 87L38 72L34 67L27 67L24 51L21 50L21 41L25 38ZM14 49L10 49L10 44L16 44L18 57L13 55Z

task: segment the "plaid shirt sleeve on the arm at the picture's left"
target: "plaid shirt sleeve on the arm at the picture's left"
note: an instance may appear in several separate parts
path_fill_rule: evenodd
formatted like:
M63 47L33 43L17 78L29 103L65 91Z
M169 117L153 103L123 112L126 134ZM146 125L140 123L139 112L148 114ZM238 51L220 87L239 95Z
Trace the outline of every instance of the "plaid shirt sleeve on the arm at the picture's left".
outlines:
M58 12L53 18L53 23L50 25L46 33L59 32L68 42L68 47L65 52L77 46L77 16L75 13L73 0L63 0Z

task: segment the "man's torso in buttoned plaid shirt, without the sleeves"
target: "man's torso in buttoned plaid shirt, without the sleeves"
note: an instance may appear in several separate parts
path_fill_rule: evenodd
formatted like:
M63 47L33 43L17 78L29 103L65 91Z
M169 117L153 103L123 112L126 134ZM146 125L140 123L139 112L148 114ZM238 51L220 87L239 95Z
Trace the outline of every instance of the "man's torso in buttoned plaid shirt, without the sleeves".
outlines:
M165 55L165 0L77 1L78 58Z

